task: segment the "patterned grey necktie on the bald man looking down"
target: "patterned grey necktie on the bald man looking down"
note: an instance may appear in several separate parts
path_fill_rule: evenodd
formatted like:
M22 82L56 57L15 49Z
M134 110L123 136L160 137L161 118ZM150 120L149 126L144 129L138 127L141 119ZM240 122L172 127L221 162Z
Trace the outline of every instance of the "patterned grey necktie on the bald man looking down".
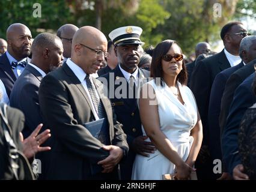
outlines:
M89 75L85 77L85 81L87 83L88 91L91 95L91 100L93 101L94 109L96 110L100 119L105 118L105 110L102 104L102 101L96 95L96 88L93 83L91 83Z

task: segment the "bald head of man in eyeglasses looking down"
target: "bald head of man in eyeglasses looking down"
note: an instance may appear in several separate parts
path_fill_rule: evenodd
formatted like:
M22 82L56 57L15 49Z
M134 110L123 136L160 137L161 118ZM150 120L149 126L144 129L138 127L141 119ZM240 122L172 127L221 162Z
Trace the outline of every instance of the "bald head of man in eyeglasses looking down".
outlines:
M85 73L96 73L105 60L107 47L108 41L99 29L84 26L73 37L71 59Z

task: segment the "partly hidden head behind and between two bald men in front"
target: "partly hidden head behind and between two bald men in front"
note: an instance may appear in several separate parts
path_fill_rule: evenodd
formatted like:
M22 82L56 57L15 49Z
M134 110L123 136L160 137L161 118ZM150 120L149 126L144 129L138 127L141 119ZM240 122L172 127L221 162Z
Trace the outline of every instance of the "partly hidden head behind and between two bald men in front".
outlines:
M71 56L72 39L76 31L78 31L78 27L72 24L62 25L57 31L56 35L61 39L64 49L63 62Z

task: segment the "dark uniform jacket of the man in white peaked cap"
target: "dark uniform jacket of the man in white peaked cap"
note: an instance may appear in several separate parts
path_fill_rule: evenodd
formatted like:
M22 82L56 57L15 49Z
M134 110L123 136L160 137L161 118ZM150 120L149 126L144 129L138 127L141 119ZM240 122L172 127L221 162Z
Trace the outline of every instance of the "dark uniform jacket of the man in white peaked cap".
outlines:
M114 75L114 77L112 77L111 75ZM149 75L149 71L142 70L139 68L139 79L142 82L147 82L147 77L149 77ZM120 80L120 77L123 77L124 83L126 83L126 79L122 71L120 70L119 65L117 65L117 67L114 68L114 70L100 77L99 80L102 78L106 78L108 82L108 91L112 93L115 92L118 87L120 87L120 83L117 83L117 85L115 85L114 83L114 80L115 82L118 82L118 80ZM127 88L127 90L129 89ZM142 136L141 118L139 116L138 102L136 98L117 98L116 96L117 95L109 95L111 103L114 106L114 112L115 114L117 114L117 121L123 124L123 130L124 133L126 133L127 135L127 142L130 146L130 151L127 160L123 164L121 164L121 178L131 179L132 166L135 158L135 152L132 150L131 146L133 139L135 139L138 136Z

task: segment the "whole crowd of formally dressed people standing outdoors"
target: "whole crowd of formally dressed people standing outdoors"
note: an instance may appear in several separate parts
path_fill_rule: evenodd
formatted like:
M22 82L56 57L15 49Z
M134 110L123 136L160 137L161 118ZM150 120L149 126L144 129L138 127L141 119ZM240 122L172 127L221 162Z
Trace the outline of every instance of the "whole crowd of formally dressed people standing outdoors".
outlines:
M107 40L66 24L33 40L28 26L8 27L0 179L256 178L256 36L229 22L224 49L199 42L187 64L175 40L144 50L142 31L123 26Z

